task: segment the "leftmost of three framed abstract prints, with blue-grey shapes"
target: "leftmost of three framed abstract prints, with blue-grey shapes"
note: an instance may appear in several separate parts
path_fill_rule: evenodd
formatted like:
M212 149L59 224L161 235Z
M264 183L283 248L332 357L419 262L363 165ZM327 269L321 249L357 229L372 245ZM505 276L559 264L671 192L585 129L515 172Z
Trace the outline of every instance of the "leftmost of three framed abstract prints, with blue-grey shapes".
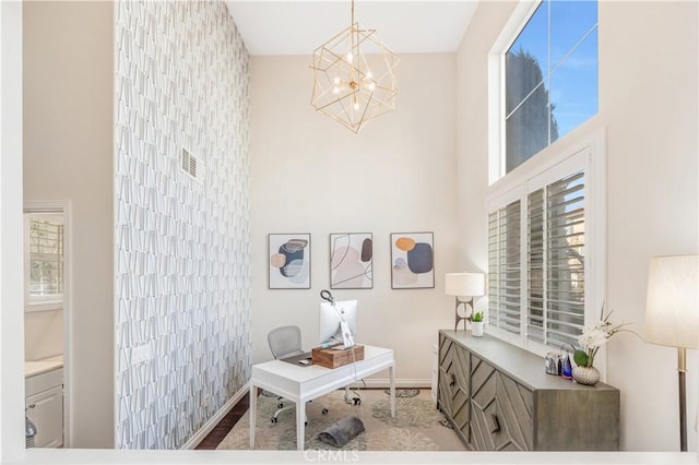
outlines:
M310 233L268 235L270 289L310 289Z

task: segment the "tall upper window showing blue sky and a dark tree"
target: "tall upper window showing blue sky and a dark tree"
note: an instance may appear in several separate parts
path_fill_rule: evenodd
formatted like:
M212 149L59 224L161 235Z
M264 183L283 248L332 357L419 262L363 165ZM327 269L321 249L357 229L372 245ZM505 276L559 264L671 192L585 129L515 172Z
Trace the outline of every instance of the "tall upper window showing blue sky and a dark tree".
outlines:
M543 0L505 53L505 171L597 112L597 2Z

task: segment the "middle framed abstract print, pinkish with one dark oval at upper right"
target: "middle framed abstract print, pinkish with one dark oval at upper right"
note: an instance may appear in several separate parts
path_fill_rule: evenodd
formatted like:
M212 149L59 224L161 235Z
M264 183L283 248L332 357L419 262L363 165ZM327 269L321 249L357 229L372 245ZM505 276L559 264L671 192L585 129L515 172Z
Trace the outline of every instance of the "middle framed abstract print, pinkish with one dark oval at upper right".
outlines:
M374 239L371 233L330 235L330 288L374 288Z

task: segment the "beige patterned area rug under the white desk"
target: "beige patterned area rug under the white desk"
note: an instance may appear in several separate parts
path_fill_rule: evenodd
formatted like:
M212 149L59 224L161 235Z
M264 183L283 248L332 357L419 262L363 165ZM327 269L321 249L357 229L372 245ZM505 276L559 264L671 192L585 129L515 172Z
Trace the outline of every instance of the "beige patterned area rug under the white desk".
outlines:
M398 390L395 418L391 418L388 390L365 389L358 393L359 405L345 402L344 390L333 391L306 408L306 449L337 450L318 440L318 433L346 416L364 422L365 431L340 450L352 451L463 451L465 450L449 421L431 400L429 390ZM289 409L271 418L276 410L276 396L263 393L258 397L256 450L295 450L296 412ZM323 414L323 407L328 414ZM246 413L216 449L248 450L250 418Z

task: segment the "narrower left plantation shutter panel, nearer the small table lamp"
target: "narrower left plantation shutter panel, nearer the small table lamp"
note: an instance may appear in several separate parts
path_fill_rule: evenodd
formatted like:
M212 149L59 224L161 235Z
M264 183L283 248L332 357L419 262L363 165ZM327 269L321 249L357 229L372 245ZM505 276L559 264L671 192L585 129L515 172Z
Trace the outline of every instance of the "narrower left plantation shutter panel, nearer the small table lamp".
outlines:
M488 324L520 334L521 202L488 215Z

